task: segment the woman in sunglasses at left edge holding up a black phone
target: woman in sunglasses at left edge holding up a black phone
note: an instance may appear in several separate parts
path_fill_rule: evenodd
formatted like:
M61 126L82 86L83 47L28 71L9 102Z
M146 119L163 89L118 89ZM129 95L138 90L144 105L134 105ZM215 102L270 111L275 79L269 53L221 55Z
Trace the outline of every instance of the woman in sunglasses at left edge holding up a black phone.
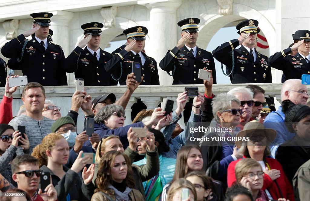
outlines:
M18 147L29 151L29 140L26 134L22 138L18 130L7 124L0 124L0 173L12 183L12 171L10 162L16 156ZM20 145L19 145L20 144Z

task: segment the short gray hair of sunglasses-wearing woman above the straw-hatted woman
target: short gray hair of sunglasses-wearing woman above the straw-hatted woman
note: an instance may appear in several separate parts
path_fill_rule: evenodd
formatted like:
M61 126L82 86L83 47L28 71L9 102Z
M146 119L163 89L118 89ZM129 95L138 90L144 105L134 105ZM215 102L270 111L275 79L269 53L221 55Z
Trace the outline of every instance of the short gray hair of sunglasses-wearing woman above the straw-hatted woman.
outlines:
M217 112L222 113L226 109L231 109L232 102L235 102L238 105L240 105L239 99L237 99L236 96L233 96L228 93L220 93L219 95L213 98L211 105L212 105L212 113L216 122L219 122Z

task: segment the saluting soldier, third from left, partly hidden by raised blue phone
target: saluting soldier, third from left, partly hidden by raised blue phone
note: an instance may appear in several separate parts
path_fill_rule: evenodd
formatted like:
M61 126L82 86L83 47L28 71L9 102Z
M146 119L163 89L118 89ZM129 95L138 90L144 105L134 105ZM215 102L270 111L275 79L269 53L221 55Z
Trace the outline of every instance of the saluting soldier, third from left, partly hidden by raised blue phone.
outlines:
M142 64L141 75L144 77L140 85L158 85L159 77L157 63L154 58L146 55L142 50L148 29L142 26L131 27L123 31L127 36L124 49L116 49L112 59L105 65L105 70L117 79L120 85L126 85L127 75L132 73L132 62ZM119 51L121 50L121 51Z

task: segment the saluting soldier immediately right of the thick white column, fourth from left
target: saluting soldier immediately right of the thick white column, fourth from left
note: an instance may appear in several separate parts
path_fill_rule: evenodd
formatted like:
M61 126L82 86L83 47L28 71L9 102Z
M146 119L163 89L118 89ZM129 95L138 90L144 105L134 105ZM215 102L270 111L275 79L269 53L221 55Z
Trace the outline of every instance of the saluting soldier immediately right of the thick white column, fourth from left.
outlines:
M168 50L159 63L162 70L173 76L172 84L203 84L198 79L199 69L212 70L213 83L216 84L215 64L212 53L197 47L198 24L200 19L187 18L178 22L181 38L178 44ZM172 72L172 75L169 72Z

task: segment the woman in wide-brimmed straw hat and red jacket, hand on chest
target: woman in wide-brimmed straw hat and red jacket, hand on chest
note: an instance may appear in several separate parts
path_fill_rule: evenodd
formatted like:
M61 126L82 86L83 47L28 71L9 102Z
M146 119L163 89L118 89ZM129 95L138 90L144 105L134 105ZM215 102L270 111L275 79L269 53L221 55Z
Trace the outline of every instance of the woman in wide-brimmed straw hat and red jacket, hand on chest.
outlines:
M243 158L256 160L264 170L262 190L265 191L269 199L286 198L293 201L293 188L281 164L277 160L268 157L270 156L270 148L267 145L275 139L276 135L275 130L265 128L263 124L253 120L246 123L243 130L237 134L237 137L248 137L250 141L236 141L236 145ZM236 181L235 165L240 160L243 159L232 161L228 166L228 187Z

